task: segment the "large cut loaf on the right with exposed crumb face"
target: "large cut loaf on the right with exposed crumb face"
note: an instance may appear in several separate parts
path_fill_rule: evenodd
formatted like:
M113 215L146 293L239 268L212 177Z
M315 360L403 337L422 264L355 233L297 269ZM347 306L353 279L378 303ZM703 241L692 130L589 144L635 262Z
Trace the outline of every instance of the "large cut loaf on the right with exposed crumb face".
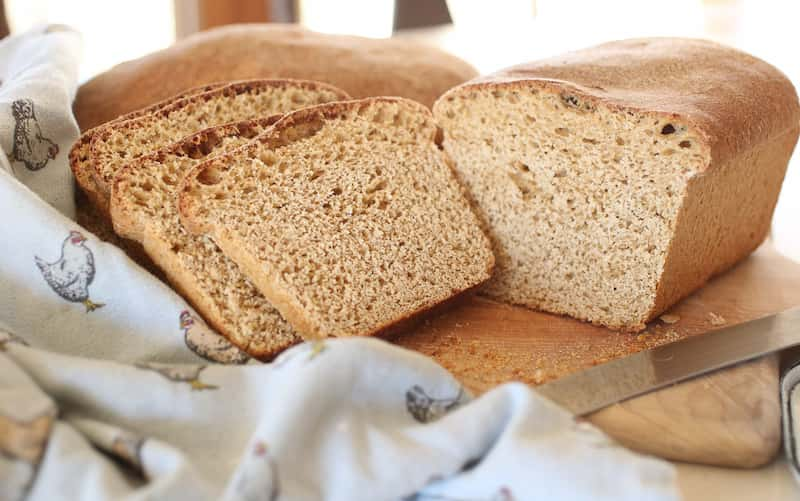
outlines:
M800 107L712 42L611 42L478 78L434 107L490 233L485 293L636 331L767 235Z

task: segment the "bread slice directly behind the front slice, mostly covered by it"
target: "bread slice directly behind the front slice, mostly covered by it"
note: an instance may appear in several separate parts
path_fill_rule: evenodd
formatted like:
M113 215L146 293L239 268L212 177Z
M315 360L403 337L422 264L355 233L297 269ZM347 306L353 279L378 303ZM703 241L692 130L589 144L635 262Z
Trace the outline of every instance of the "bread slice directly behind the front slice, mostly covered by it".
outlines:
M178 181L193 166L248 143L280 115L193 134L122 167L111 216L121 236L140 242L167 280L218 332L261 360L300 341L291 326L211 239L187 233L178 219Z

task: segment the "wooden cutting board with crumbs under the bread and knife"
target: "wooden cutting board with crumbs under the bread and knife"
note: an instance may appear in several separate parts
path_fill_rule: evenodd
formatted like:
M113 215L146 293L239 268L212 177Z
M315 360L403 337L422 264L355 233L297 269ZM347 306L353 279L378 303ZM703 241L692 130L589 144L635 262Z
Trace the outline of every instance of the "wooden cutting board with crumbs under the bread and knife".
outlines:
M538 385L689 336L800 305L800 263L768 245L670 312L624 334L480 296L398 336L433 357L474 393L507 381ZM777 356L740 364L627 402L587 419L622 444L664 458L756 467L780 446Z

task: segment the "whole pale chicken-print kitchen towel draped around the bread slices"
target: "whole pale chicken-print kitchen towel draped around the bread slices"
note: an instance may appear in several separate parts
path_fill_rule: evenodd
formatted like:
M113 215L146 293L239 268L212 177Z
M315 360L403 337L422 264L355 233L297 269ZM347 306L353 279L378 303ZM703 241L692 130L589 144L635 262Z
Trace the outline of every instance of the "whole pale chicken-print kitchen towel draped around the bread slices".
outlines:
M374 339L249 360L73 221L79 45L0 42L0 499L678 498L669 463L520 384L472 399Z

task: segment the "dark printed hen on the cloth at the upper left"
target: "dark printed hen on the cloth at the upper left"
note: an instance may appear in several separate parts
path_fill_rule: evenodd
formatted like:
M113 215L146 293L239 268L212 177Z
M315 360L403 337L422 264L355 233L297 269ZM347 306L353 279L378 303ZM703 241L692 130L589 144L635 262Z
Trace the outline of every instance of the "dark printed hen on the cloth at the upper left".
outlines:
M47 162L58 155L58 145L44 137L33 101L18 99L11 104L14 115L14 147L11 158L25 164L28 170L43 169Z

